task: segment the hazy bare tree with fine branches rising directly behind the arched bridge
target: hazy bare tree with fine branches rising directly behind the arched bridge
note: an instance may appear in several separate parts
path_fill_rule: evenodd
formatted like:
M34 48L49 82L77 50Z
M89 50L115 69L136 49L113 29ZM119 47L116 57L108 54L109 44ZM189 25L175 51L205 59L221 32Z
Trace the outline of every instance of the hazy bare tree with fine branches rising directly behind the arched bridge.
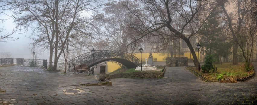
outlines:
M96 45L99 49L117 49L117 50L133 50L135 43L127 46L131 41L135 40L135 36L139 34L137 30L131 28L139 22L124 4L135 9L138 4L132 1L109 1L104 4L104 13L98 15L97 24L101 32ZM140 12L139 10L137 12ZM139 22L140 23L140 22ZM138 45L138 42L136 42Z

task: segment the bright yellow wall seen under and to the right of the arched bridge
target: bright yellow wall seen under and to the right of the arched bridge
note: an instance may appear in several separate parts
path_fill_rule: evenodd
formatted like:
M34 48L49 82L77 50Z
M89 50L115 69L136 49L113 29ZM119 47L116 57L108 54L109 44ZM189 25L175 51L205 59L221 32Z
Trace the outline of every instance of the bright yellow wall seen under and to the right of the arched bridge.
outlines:
M198 58L198 52L195 52L195 53ZM134 55L140 59L140 53L134 53ZM168 56L167 53L153 53L153 58L157 58L157 61L165 61L167 56ZM142 53L142 61L143 61L143 58L148 58L148 57L149 57L149 53ZM185 52L185 57L190 58L190 52ZM193 59L192 54L191 54L191 58ZM118 68L120 68L118 64L111 61L108 61L106 65L107 65L108 72L113 72L114 70L117 70Z

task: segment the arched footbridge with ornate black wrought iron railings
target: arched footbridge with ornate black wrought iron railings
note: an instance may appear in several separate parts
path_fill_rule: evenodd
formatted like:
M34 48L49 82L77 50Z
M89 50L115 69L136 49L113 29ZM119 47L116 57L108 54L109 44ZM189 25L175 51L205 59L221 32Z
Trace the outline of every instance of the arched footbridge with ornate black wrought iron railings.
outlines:
M88 65L89 67L96 68L97 65L106 61L117 61L127 68L135 68L139 65L139 59L133 54L121 50L98 50L94 54L87 52L68 62L68 71L73 69L72 64Z

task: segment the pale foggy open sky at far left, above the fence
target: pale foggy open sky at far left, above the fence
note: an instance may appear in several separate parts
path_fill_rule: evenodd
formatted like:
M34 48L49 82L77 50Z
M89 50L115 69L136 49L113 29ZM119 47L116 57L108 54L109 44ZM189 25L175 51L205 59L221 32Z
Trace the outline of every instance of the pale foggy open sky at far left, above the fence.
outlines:
M5 11L8 15L12 15L11 12ZM15 29L15 23L13 23L14 18L9 17L5 14L0 15L1 19L7 19L4 22L0 23L0 27L4 28L4 32L2 34L5 34L5 32L12 32L13 29ZM24 30L22 32L25 32ZM12 36L14 38L19 38L16 41L10 41L10 42L0 42L0 52L10 52L11 58L33 58L31 49L32 45L30 43L33 43L33 41L29 38L32 33L31 29L29 29L27 32L23 34L13 34ZM47 51L41 51L40 48L35 49L36 52L36 58L39 59L49 59L49 53Z

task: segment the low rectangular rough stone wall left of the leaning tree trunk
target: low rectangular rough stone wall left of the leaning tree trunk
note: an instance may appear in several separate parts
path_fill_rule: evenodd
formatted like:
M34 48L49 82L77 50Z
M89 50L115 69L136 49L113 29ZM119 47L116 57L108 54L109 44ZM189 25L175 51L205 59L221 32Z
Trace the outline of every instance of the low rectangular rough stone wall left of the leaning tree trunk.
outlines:
M166 66L169 66L169 67L188 66L188 57L167 57Z

